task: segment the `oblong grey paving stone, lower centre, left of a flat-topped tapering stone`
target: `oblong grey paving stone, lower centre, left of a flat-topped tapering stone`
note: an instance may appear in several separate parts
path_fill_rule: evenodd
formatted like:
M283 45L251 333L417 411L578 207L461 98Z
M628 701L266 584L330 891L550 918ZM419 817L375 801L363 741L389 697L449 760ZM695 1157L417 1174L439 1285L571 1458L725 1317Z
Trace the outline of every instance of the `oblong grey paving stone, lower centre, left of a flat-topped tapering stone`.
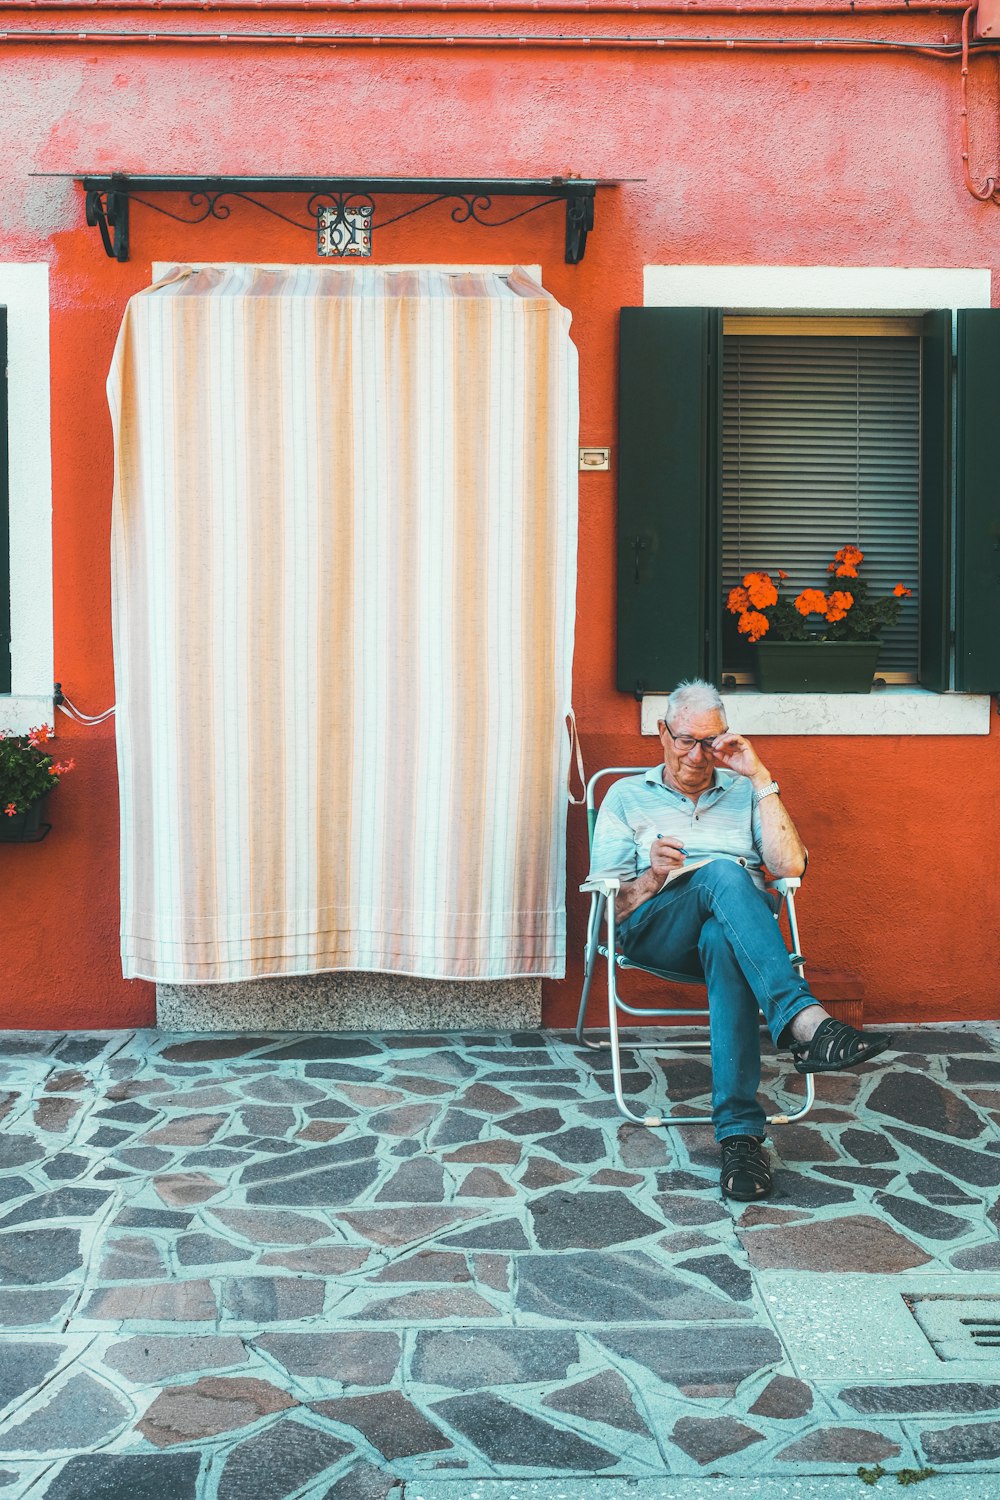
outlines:
M412 1374L429 1386L477 1390L481 1386L565 1380L579 1359L576 1334L553 1329L429 1330L417 1334ZM562 1410L573 1412L574 1407Z

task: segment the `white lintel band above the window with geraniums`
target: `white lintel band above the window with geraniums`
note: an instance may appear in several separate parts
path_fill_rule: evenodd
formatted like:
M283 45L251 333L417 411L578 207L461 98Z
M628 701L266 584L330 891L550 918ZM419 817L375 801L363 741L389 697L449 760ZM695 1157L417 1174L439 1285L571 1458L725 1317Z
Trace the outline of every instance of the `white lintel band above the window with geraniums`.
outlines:
M988 308L991 273L922 266L646 266L646 308L900 312Z

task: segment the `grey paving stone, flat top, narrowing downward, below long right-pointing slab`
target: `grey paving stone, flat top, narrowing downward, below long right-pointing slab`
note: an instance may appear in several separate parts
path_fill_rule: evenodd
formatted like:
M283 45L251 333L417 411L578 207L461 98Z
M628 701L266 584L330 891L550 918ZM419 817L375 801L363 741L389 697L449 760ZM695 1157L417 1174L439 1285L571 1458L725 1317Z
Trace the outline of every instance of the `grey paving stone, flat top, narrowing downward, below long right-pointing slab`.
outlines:
M783 1358L769 1328L606 1328L600 1340L679 1390L711 1386L732 1395L742 1380Z

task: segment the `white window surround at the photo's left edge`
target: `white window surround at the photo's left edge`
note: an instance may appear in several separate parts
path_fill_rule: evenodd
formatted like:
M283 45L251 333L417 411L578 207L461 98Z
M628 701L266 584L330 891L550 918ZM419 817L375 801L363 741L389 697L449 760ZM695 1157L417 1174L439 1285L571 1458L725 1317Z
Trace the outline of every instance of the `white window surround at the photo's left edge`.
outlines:
M48 266L0 264L10 426L10 693L0 729L52 722L52 458Z

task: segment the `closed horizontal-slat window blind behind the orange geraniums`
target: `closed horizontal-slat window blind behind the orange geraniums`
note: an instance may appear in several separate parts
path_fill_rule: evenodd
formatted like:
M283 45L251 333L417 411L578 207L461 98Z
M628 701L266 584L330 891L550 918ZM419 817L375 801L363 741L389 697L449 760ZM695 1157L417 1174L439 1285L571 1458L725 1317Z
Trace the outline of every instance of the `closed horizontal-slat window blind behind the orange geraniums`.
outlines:
M844 543L874 597L903 582L879 666L918 666L921 340L726 334L723 585L784 568L792 597L829 585Z

